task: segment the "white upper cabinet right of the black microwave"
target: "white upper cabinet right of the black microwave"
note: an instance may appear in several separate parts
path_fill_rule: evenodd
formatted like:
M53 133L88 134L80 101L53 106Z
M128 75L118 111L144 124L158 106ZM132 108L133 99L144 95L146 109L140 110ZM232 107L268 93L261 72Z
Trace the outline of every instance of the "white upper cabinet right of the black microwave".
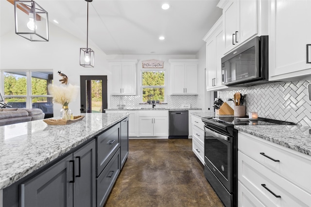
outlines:
M310 44L311 0L271 0L269 80L310 78Z

